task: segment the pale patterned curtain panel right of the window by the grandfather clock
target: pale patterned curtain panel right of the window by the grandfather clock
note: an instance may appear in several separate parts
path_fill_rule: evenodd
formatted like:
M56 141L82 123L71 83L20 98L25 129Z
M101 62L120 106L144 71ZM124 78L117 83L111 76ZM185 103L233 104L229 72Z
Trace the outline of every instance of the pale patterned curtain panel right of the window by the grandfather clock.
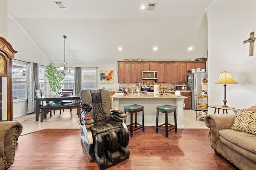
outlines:
M26 78L28 87L28 106L27 113L34 112L34 77L33 77L33 63L26 65Z

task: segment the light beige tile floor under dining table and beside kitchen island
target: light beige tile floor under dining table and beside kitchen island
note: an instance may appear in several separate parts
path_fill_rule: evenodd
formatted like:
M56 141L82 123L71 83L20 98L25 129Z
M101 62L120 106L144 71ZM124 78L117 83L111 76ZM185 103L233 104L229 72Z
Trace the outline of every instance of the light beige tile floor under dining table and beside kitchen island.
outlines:
M51 118L48 113L47 119L43 122L35 121L35 113L14 118L14 121L20 121L23 125L22 135L41 129L80 129L78 120L76 109L73 109L72 114L70 109L65 109L61 114L60 111L55 111L55 115L52 115ZM208 129L204 119L196 121L196 111L194 110L184 110L184 127L185 129Z

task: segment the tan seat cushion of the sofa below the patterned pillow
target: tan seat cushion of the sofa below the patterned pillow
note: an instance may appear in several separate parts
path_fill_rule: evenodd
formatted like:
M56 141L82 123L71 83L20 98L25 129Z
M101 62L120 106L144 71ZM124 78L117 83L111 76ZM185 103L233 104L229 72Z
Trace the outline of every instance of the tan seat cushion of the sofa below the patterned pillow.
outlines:
M222 129L219 131L219 134L222 143L248 158L251 158L251 153L253 153L256 159L256 135L231 129Z

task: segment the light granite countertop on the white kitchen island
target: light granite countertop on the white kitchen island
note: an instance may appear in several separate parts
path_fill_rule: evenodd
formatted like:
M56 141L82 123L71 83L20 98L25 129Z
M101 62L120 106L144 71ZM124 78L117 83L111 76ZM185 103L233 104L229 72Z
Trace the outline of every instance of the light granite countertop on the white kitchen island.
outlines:
M144 95L144 94L129 94L128 96L123 96L123 94L122 93L115 93L113 96L111 96L111 98L122 98L122 99L124 99L124 98L159 98L159 99L161 99L161 98L166 98L166 99L168 99L168 98L170 98L170 99L178 99L178 98L188 98L188 97L186 97L186 96L174 96L174 94L172 94L172 93L168 93L168 94L163 94L162 96L159 94L158 96L154 96L154 93L147 93L146 95Z

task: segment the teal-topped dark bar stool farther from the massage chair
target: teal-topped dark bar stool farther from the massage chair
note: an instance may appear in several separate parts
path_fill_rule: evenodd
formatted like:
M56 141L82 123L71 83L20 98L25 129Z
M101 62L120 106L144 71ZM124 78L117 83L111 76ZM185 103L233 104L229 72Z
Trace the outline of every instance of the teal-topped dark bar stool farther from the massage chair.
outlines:
M165 113L165 123L162 125L158 125L158 116L159 112ZM168 113L174 112L174 125L168 123ZM165 125L165 129L163 129L161 126ZM168 126L170 125L170 126ZM177 132L177 116L176 116L176 106L170 106L170 105L164 105L164 106L157 106L156 107L156 132L158 132L158 129L165 131L165 136L168 137L168 131L175 129L175 132Z

